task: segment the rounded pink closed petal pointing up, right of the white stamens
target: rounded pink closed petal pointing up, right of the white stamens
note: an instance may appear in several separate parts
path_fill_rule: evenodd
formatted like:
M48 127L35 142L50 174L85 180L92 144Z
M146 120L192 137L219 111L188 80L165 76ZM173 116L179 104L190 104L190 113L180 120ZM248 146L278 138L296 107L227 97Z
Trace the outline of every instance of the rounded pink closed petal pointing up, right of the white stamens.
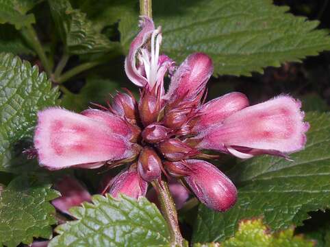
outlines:
M175 102L178 99L194 99L205 89L207 80L213 73L213 64L209 56L203 53L191 54L177 69L166 94L166 99Z

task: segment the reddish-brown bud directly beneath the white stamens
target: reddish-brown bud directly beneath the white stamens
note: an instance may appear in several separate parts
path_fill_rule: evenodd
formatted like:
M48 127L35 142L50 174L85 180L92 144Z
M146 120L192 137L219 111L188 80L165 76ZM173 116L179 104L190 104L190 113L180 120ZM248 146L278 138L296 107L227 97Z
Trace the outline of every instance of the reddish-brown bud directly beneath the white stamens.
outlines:
M140 112L140 119L144 126L148 126L157 121L160 113L160 98L157 97L155 90L149 91L145 88L142 92L140 104L138 106Z

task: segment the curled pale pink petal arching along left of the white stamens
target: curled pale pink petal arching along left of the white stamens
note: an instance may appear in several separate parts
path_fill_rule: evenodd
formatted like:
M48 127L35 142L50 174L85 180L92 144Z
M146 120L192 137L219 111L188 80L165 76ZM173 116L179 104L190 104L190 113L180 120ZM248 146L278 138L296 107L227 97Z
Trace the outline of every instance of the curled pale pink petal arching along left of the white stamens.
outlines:
M142 30L136 38L134 38L131 47L129 47L129 54L125 58L125 72L131 82L137 86L145 86L148 84L148 81L136 68L136 54L138 53L138 49L146 43L153 30L155 30L155 25L153 25L152 19L147 16L142 16L140 27Z

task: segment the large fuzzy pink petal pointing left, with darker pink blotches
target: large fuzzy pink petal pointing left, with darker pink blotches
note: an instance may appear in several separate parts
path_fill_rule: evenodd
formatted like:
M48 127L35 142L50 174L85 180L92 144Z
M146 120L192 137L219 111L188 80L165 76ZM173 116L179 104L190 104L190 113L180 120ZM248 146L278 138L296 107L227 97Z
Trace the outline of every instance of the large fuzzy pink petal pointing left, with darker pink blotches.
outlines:
M103 122L62 108L38 112L34 146L49 169L114 161L132 156L132 145Z

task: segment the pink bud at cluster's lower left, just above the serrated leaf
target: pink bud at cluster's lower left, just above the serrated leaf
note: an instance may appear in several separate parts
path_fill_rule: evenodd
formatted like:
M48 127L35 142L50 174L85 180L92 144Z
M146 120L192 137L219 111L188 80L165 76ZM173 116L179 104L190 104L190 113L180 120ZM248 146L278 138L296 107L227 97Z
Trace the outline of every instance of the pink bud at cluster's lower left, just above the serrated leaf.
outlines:
M119 193L123 193L126 196L138 199L140 196L146 195L147 187L147 182L140 178L136 167L132 165L129 169L114 177L109 193L114 198Z

